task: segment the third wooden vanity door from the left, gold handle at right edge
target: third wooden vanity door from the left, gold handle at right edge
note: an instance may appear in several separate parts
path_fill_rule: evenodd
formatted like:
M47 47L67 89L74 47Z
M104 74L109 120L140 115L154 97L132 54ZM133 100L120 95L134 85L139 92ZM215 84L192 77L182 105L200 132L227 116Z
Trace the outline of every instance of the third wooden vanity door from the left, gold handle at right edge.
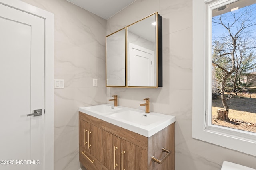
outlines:
M103 130L102 149L102 165L108 170L120 170L121 139Z

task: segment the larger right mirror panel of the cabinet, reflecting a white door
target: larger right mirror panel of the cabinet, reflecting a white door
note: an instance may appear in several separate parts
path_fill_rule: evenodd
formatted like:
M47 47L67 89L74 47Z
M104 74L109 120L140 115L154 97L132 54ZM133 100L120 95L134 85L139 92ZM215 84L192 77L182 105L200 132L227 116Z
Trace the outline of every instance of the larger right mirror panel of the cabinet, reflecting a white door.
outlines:
M159 18L161 19L160 51L162 51L162 17L159 14L152 14L127 27L127 86L162 86L162 83L158 84L159 45L156 41L159 38ZM162 62L162 56L160 58ZM162 71L160 73L162 74Z

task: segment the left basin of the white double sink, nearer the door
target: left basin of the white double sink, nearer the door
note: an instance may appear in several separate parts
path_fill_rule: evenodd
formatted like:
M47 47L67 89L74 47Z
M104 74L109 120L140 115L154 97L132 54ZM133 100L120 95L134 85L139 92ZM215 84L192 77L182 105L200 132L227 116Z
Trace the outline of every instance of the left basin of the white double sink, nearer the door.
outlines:
M112 105L108 104L100 104L100 105L94 105L94 106L87 106L87 107L81 107L81 109L84 109L85 111L90 111L93 113L106 115L109 113L113 113L118 110L122 110L122 108L114 107Z

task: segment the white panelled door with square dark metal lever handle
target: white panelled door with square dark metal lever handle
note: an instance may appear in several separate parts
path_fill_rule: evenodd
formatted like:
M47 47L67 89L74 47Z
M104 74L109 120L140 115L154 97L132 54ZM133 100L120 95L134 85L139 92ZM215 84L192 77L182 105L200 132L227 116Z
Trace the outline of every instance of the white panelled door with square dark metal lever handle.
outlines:
M0 161L1 170L44 169L44 19L2 4Z

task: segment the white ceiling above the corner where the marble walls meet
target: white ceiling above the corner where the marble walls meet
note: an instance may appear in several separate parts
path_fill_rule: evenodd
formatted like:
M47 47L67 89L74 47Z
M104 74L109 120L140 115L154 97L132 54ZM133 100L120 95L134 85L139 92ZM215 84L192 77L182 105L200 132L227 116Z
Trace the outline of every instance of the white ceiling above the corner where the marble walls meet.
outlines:
M108 19L136 0L67 0L87 11Z

